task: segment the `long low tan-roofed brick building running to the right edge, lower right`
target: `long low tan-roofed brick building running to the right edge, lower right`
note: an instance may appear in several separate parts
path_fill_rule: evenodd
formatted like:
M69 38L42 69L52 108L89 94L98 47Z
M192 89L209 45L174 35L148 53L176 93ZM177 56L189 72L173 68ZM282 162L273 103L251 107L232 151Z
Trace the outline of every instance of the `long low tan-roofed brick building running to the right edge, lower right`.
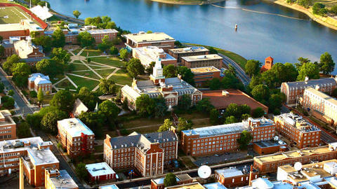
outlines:
M254 167L261 174L277 172L277 167L282 165L294 165L295 162L308 164L322 162L337 158L337 143L315 148L303 148L299 151L287 151L270 155L254 157Z

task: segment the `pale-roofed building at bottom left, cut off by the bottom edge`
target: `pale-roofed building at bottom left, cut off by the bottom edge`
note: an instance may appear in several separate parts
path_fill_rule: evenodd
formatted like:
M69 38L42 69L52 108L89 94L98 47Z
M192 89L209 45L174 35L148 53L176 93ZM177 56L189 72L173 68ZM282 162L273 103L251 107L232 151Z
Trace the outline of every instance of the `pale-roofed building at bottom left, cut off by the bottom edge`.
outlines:
M72 177L66 170L45 169L45 184L46 189L78 189L79 186L72 180Z

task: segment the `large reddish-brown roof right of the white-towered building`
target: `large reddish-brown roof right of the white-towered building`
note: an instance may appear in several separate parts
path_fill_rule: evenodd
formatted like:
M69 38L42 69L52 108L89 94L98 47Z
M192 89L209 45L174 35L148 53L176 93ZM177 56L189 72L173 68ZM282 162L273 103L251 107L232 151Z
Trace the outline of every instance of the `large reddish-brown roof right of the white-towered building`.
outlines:
M249 97L248 94L235 89L203 91L202 97L209 98L209 101L216 109L225 109L228 105L234 103L237 105L246 104L251 107L251 110L257 109L258 107L265 111L268 110L267 106Z

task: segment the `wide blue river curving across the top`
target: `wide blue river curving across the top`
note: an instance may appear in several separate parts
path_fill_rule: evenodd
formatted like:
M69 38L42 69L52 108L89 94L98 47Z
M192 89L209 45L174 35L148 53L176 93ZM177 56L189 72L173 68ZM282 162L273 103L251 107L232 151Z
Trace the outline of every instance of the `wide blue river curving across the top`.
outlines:
M319 61L319 56L327 51L337 62L337 31L271 2L228 0L216 3L217 6L170 5L149 0L49 2L59 13L72 15L73 10L79 10L80 18L108 15L131 32L164 31L176 40L224 48L246 59L264 62L265 57L272 56L275 62L293 63L298 57Z

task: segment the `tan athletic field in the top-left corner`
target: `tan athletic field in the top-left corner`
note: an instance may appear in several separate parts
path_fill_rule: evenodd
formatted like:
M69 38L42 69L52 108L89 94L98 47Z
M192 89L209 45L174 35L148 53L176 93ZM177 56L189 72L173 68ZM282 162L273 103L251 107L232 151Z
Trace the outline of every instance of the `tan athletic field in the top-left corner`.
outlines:
M21 8L15 6L0 7L0 25L15 24L25 19L29 19L29 15Z

